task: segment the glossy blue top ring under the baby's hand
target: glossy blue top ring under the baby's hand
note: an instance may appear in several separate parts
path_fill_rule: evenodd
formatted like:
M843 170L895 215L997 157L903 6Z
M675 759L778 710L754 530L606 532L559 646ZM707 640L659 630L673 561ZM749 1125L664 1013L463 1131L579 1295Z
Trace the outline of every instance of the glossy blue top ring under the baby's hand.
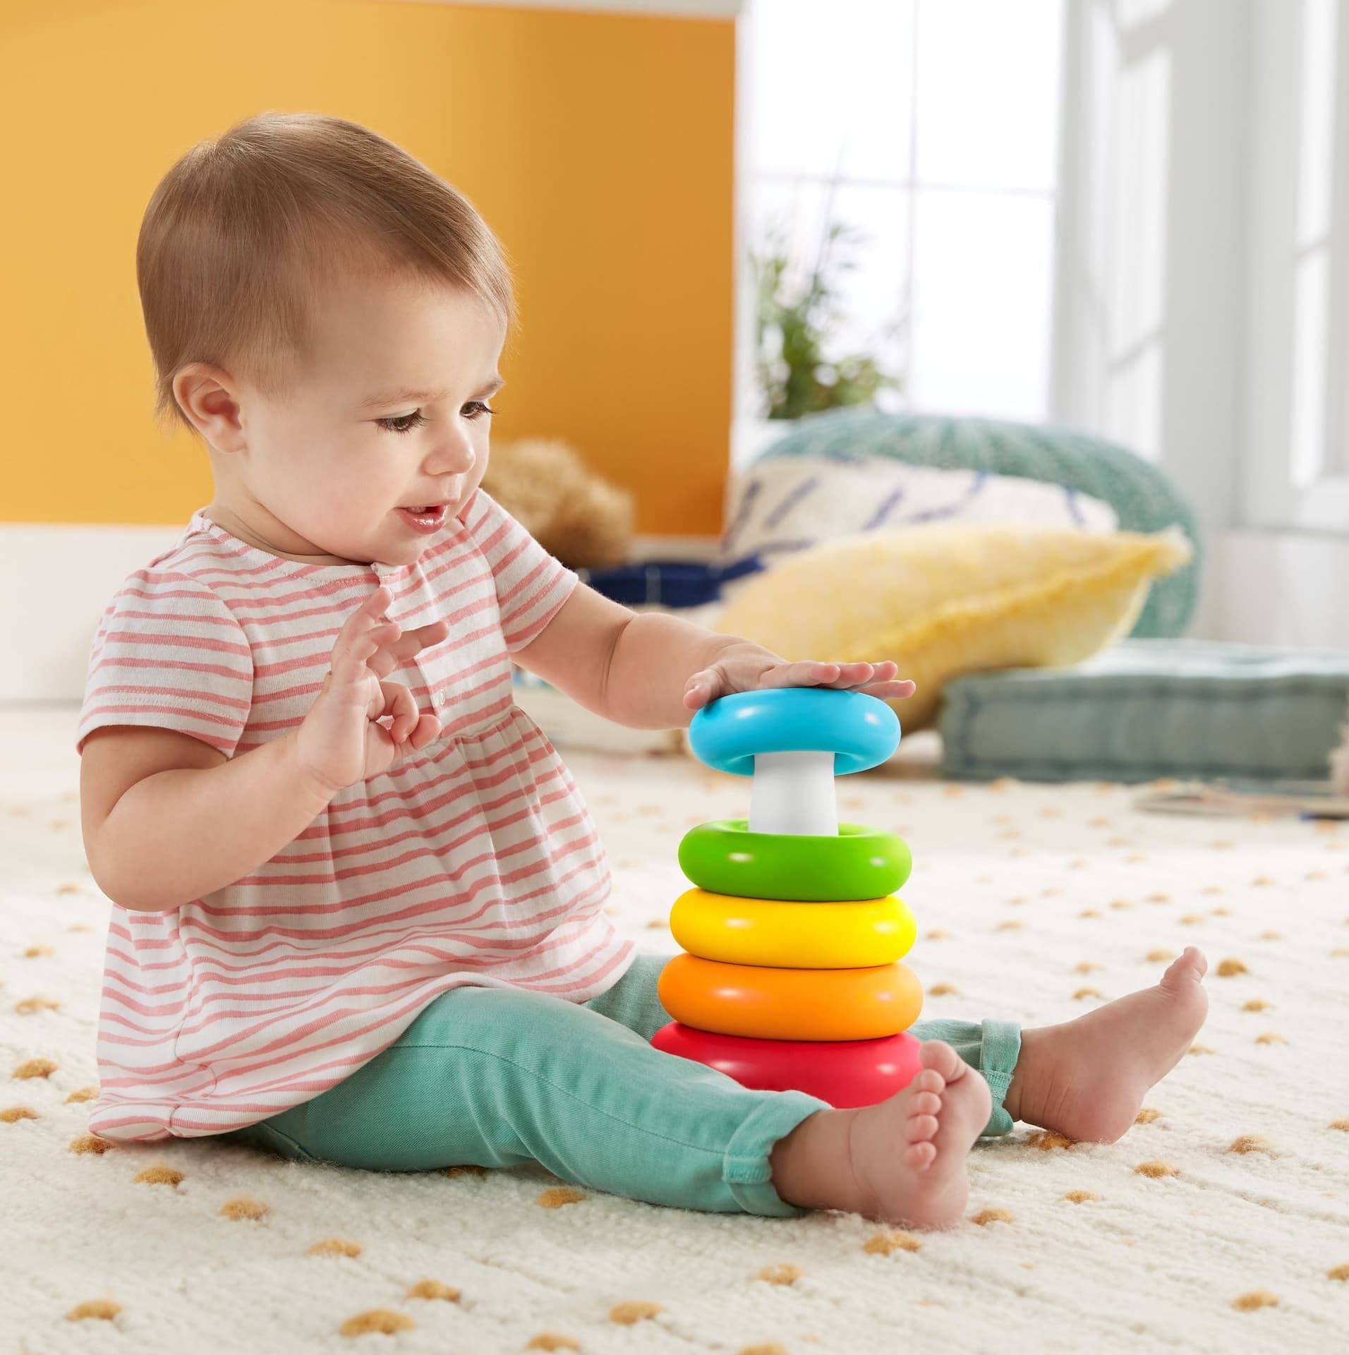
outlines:
M706 705L688 726L693 756L752 776L756 753L834 755L834 775L883 763L899 744L899 717L879 696L836 687L741 691Z

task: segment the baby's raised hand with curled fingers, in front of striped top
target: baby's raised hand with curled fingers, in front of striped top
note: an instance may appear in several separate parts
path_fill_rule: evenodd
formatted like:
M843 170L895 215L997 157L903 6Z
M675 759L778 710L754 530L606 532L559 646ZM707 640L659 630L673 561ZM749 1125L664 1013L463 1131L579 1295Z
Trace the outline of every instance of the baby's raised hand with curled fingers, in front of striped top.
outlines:
M343 623L332 671L295 730L301 768L330 795L386 771L440 733L440 721L419 715L402 683L383 679L419 649L440 644L450 625L436 621L404 635L397 622L381 619L390 602L393 593L381 584ZM387 729L377 724L386 715Z

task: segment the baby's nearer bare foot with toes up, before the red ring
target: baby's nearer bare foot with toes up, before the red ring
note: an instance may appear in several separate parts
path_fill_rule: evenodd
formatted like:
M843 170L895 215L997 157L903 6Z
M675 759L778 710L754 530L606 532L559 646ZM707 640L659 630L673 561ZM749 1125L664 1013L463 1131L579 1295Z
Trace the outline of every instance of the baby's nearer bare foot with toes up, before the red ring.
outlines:
M894 1096L819 1111L772 1153L777 1194L914 1228L945 1228L970 1194L966 1157L989 1121L989 1084L949 1046L928 1041L922 1072Z

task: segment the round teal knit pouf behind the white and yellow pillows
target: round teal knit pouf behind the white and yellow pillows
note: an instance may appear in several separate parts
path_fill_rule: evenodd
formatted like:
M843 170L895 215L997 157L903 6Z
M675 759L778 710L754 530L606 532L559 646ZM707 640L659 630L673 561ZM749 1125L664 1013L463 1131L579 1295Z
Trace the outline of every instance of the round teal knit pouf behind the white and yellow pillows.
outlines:
M912 466L1020 476L1108 503L1119 516L1121 531L1161 531L1177 524L1193 545L1195 558L1169 579L1153 584L1131 634L1138 638L1180 635L1195 611L1201 564L1195 512L1161 467L1127 447L1044 424L891 415L871 406L828 409L784 423L783 428L784 435L756 459L891 457Z

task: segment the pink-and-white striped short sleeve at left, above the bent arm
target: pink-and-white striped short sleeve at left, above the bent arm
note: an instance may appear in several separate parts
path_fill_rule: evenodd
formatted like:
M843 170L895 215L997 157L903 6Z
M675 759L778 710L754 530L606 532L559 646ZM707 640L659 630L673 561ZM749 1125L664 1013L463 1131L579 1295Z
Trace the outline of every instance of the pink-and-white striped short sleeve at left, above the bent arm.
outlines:
M140 569L99 621L76 751L102 725L153 725L228 757L252 696L252 650L225 603L187 575Z

